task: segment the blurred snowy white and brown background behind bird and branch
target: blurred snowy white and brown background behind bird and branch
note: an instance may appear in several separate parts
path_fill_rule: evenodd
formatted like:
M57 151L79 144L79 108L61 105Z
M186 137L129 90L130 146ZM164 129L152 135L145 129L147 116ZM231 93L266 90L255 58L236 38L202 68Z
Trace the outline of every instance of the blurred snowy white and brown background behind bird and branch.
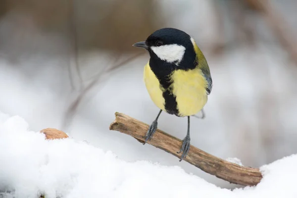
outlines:
M296 0L0 0L0 111L234 188L109 131L115 111L146 123L159 111L143 82L148 53L132 44L163 27L194 37L213 90L206 118L192 118L192 145L259 167L297 152L296 9ZM162 114L158 127L183 139L187 119Z

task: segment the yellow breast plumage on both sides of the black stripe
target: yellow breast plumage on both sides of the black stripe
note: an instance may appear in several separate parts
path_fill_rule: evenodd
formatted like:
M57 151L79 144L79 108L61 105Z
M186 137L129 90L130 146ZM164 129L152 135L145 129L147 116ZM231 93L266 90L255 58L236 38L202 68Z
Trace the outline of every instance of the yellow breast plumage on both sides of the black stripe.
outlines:
M147 63L144 70L144 81L151 100L157 107L165 110L165 100L159 80L151 71ZM172 73L172 94L176 96L179 116L189 116L197 114L207 102L206 88L207 82L200 69L184 71L176 70Z

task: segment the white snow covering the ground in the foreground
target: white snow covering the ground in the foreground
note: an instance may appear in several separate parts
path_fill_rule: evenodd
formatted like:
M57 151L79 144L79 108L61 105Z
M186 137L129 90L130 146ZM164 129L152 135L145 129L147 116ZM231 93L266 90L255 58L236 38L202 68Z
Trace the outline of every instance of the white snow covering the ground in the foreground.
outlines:
M296 198L297 155L262 166L256 187L221 189L179 166L127 162L72 138L46 140L19 116L0 114L0 197Z

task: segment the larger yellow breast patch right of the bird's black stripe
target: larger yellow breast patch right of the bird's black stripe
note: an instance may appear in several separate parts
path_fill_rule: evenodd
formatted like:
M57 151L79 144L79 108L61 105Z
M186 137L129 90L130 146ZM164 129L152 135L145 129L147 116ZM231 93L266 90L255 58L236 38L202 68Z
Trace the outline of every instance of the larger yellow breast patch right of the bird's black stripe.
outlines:
M172 74L172 80L180 116L197 114L207 102L207 82L201 70L176 70Z

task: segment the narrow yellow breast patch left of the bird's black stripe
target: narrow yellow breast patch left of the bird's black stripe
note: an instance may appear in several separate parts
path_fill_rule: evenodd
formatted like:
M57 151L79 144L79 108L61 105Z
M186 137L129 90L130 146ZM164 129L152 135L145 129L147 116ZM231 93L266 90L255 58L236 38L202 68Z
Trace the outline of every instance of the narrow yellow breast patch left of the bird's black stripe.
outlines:
M163 98L163 88L160 86L159 80L155 74L151 71L149 64L147 63L144 70L144 80L148 90L150 99L155 103L155 105L165 110L165 100Z

